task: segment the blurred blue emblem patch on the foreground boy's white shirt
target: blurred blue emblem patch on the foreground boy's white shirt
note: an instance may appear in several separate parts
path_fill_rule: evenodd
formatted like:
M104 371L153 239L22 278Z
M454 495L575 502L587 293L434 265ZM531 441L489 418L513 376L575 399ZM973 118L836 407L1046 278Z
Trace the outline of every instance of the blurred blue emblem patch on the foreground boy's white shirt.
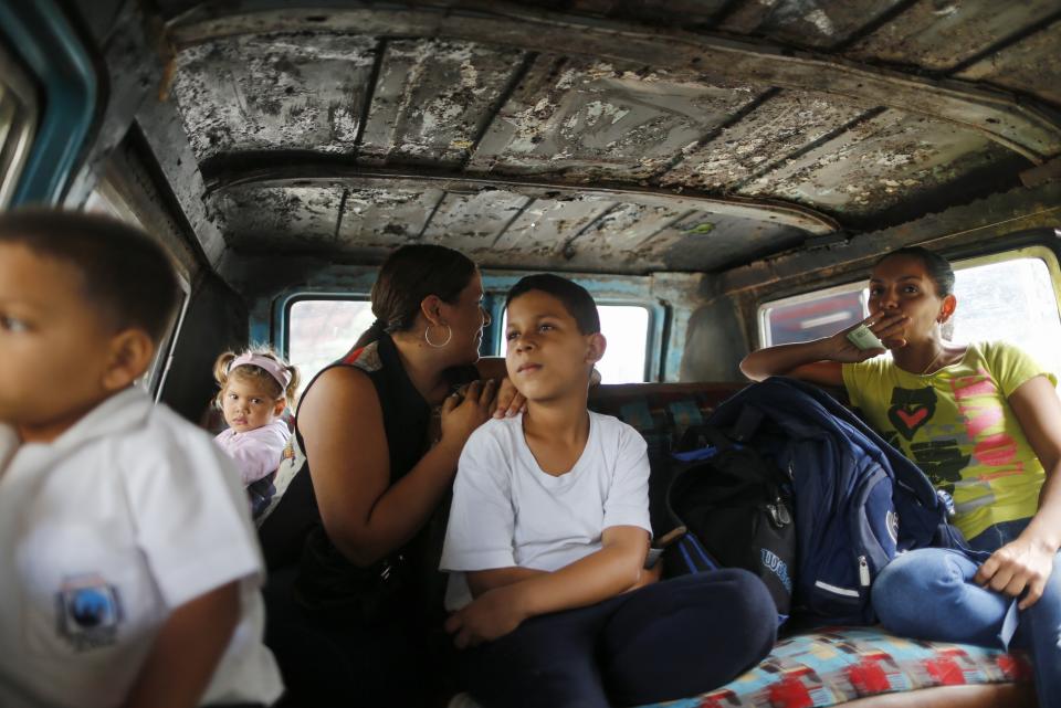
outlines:
M122 622L118 589L99 575L78 575L63 582L55 596L59 633L78 652L111 646Z

